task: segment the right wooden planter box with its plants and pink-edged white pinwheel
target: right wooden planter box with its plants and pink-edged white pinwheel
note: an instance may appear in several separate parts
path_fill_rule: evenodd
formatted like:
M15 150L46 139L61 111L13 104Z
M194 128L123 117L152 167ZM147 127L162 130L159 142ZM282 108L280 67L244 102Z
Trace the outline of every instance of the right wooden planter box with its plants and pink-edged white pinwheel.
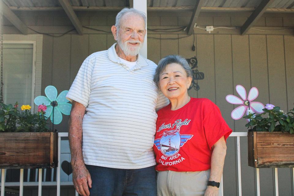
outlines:
M248 132L248 165L255 168L294 167L294 117L293 110L285 113L272 104L264 106L253 101L258 89L252 87L246 94L243 86L237 85L234 95L226 96L231 104L239 104L231 116L234 120L245 118Z

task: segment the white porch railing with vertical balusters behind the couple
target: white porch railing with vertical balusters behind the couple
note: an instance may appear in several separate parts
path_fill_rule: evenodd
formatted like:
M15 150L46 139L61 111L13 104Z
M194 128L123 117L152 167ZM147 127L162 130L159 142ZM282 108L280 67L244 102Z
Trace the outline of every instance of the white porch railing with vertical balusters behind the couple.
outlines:
M46 169L44 169L44 176L42 180L42 172L43 169L36 169L35 181L37 181L37 173L39 173L39 181L38 182L24 182L24 169L20 171L20 182L6 182L6 169L1 169L1 196L4 196L5 193L5 186L7 187L20 187L19 195L23 196L23 187L24 186L38 186L38 196L42 195L42 186L57 186L57 196L60 196L60 186L73 186L73 182L61 182L60 181L60 172L61 172L61 137L68 137L68 133L58 133L58 167L56 173L56 181L53 181L54 172L51 172L51 182L44 182L46 179ZM238 187L239 187L239 196L242 196L242 187L241 187L241 155L240 155L240 137L247 137L247 132L233 132L230 137L237 138L237 162L238 162ZM54 171L54 168L51 169ZM293 189L294 189L294 168L292 168L292 178L293 178ZM279 195L278 192L278 170L275 168L275 196ZM30 170L28 170L28 173ZM29 179L27 179L29 181ZM260 186L259 186L259 169L256 168L256 187L257 187L257 196L260 196ZM221 179L220 185L222 195L224 195L224 188L223 188L223 179ZM76 192L76 196L77 196Z

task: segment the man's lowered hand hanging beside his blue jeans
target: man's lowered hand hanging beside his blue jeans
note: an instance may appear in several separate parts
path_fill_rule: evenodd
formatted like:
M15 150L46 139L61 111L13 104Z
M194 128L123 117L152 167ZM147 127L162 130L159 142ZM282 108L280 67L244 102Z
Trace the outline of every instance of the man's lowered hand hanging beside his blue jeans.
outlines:
M89 187L92 188L92 179L85 164L73 168L73 183L78 194L89 196Z

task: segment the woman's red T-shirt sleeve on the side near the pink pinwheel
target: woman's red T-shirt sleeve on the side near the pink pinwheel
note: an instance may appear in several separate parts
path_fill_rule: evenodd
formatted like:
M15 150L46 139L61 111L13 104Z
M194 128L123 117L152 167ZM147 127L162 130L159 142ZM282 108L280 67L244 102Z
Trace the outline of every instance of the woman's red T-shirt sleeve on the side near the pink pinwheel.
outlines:
M209 149L212 149L212 146L221 137L224 136L224 139L227 140L232 133L232 129L225 122L220 109L215 104L208 108L203 111L203 127Z

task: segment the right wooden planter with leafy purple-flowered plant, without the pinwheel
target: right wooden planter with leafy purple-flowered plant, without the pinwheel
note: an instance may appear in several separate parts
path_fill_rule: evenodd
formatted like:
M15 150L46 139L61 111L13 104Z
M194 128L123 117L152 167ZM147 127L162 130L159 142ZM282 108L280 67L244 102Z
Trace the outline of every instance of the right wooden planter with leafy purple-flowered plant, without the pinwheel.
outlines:
M262 114L249 111L248 165L255 168L294 167L294 108L287 114L266 104Z

